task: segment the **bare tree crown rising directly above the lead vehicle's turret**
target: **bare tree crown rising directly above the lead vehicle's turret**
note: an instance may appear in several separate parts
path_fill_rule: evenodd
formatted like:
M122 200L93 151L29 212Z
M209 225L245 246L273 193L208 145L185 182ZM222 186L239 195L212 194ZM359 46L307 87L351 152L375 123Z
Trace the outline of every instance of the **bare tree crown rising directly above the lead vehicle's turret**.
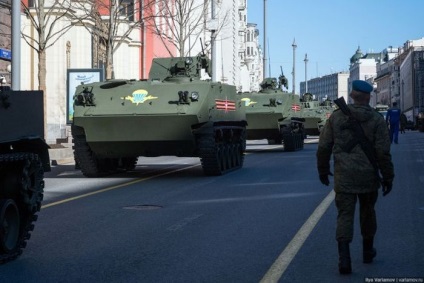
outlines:
M210 5L212 0L158 0L151 5L148 28L164 41L169 54L173 53L166 42L170 42L180 56L187 56L199 38L207 36L210 23ZM214 27L219 32L227 22L229 12L221 13L221 20ZM166 41L166 42L165 42ZM187 47L188 46L188 47Z

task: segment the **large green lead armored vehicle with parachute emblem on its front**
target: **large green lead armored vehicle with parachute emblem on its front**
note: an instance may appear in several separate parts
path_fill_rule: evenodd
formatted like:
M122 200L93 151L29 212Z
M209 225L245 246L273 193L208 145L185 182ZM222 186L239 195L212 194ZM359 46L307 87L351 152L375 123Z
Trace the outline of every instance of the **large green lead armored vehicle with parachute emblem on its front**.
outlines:
M200 157L206 175L241 168L246 115L205 55L153 59L148 80L76 88L74 156L87 177L133 169L139 156Z

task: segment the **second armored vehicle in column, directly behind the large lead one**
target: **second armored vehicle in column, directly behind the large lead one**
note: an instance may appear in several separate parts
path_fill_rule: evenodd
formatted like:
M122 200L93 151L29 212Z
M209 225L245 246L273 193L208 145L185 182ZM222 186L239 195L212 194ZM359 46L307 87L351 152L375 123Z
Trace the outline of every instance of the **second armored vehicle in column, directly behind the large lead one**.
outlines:
M287 86L284 75L266 78L259 92L242 93L246 108L247 139L267 139L268 143L284 144L285 151L303 148L303 119L292 108L300 107L299 96L282 90Z

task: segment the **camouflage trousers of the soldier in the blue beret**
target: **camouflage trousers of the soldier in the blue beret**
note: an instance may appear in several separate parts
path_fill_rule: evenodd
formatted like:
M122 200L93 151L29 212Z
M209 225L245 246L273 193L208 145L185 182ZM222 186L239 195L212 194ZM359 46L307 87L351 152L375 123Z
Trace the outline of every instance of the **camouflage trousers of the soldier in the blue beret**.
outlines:
M364 239L373 238L377 231L377 218L374 210L378 191L363 194L336 193L337 229L336 240L351 242L356 200L359 199L359 223Z

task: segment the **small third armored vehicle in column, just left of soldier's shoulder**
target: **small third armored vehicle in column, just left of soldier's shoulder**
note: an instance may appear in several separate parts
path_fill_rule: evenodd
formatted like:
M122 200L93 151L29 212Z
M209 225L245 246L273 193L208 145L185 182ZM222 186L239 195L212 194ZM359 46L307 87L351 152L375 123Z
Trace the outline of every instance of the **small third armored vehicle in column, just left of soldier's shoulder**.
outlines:
M302 97L300 117L305 119L305 134L318 136L325 125L325 122L334 111L334 106L330 100L320 103L313 99L309 92Z

